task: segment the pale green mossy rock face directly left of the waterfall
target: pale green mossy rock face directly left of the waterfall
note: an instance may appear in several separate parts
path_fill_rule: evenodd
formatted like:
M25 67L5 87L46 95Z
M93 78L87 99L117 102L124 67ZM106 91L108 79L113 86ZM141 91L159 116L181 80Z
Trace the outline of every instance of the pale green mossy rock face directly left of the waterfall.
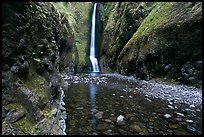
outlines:
M91 28L91 2L52 2L62 18L69 20L78 51L77 72L88 68L89 39Z

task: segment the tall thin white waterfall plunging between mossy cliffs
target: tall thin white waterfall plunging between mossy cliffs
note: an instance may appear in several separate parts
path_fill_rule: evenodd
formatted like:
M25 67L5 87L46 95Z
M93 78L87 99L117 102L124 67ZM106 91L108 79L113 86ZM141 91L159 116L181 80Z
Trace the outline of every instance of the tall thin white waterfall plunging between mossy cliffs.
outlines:
M94 9L92 13L92 26L91 26L91 45L90 45L90 60L93 67L92 72L99 72L98 60L95 57L95 23L96 23L96 6L97 3L94 4Z

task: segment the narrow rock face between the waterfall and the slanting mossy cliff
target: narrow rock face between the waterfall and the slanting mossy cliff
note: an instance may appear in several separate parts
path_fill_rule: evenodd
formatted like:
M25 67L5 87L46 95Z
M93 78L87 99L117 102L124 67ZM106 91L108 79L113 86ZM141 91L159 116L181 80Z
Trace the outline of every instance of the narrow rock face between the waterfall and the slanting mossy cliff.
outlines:
M116 60L125 44L151 10L152 3L110 2L103 4L104 24L101 47L102 71L115 70Z

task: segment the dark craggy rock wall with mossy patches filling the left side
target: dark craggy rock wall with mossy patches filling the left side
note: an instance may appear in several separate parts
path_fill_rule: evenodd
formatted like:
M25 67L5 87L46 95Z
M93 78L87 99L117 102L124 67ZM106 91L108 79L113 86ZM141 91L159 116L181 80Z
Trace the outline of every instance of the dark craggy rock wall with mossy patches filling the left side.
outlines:
M2 133L64 134L64 110L54 106L63 96L60 72L73 74L78 63L69 22L50 3L2 7Z

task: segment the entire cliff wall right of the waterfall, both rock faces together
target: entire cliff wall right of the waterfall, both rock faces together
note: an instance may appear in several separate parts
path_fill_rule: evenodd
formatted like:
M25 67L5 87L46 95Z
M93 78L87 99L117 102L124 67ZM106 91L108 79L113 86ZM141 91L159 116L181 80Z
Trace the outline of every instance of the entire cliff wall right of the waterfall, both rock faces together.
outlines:
M103 3L103 72L202 84L202 3Z

